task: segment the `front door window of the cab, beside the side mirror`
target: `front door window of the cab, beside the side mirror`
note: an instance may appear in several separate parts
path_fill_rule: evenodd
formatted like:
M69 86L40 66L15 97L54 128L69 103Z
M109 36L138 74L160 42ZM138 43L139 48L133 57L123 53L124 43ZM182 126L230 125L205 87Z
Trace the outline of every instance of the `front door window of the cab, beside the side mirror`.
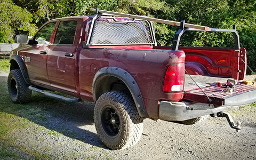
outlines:
M50 38L56 22L47 23L35 36L37 44L50 44Z

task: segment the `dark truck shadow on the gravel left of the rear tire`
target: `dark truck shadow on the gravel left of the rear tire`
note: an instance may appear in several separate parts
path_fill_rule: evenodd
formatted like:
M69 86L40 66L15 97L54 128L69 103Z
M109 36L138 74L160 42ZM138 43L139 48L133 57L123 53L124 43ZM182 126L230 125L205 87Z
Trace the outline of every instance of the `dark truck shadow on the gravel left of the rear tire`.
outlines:
M9 98L6 79L7 77L0 77L2 100L6 101L6 105L2 107L4 112L29 119L29 121L44 126L46 129L57 131L71 139L106 148L94 127L95 103L88 101L71 103L33 92L28 103L15 104ZM47 133L49 131L43 132L49 134ZM55 134L55 132L50 134Z

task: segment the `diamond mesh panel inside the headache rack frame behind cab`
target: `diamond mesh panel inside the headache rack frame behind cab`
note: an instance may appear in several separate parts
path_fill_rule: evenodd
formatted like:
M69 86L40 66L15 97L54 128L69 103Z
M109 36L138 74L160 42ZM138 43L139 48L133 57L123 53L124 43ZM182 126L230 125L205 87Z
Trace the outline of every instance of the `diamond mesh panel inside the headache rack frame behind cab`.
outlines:
M131 20L131 19L130 19ZM100 18L95 22L91 44L152 44L149 24L135 20Z

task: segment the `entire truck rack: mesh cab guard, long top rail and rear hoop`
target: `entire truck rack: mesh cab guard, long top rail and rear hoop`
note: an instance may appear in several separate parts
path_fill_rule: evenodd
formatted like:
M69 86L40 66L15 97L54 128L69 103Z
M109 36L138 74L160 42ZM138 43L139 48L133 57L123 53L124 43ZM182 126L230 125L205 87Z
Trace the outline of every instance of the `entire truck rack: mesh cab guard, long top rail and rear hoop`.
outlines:
M91 9L96 12L94 17L87 23L86 39L83 42L84 48L89 48L90 45L157 45L155 39L154 27L151 23L164 23L167 25L180 26L180 29L174 36L172 50L178 50L180 38L185 31L212 31L212 32L230 32L234 36L235 48L239 49L239 35L236 31L236 25L233 29L218 29L207 26L193 25L185 23L185 21L177 22L150 18L148 16L125 14L111 12L105 10ZM116 18L127 17L125 18ZM110 20L111 19L111 20ZM125 24L125 25L124 25ZM111 27L110 27L111 25ZM118 26L119 25L119 26ZM93 26L93 27L90 27ZM113 27L115 26L115 27ZM120 27L120 26L123 26ZM90 28L90 29L89 29ZM129 30L130 29L130 30ZM137 32L137 33L134 33ZM125 34L119 34L125 33Z

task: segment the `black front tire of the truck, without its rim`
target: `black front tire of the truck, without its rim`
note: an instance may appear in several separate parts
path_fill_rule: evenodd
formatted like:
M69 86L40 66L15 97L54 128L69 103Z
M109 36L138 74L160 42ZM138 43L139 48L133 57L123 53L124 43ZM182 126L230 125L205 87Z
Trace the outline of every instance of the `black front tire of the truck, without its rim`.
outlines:
M17 94L12 94L11 81L12 79L17 84ZM31 98L32 91L28 89L28 84L25 82L25 79L22 76L20 69L13 69L10 71L7 86L11 100L14 103L25 103L28 102Z

